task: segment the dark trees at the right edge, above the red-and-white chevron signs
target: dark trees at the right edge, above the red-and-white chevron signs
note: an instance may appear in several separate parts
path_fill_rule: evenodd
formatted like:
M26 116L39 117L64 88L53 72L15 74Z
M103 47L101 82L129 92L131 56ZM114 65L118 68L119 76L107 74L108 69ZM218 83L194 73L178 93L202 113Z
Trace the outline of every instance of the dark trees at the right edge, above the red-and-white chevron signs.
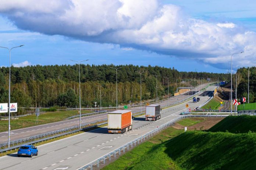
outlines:
M237 75L233 75L232 84L235 89L237 78L237 98L241 101L242 97L246 97L248 101L248 68L240 68L237 70ZM233 93L234 94L234 93ZM233 96L235 98L235 96ZM250 103L256 102L256 67L249 69L249 99Z

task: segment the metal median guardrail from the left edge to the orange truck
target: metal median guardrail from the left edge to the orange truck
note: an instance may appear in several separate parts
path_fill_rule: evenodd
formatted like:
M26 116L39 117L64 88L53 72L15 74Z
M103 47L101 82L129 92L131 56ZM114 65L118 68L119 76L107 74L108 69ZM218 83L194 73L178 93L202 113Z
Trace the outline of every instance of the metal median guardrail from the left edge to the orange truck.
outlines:
M90 129L92 127L107 124L107 122L99 123L99 122L103 122L103 121L107 121L107 119L103 119L103 120L97 121L97 122L91 122L91 123L83 124L83 125L81 125L82 126L81 129L79 129L79 126L72 126L72 127L66 128L66 129L61 129L61 130L57 130L57 131L53 131L53 132L48 132L48 133L39 134L39 135L28 137L28 138L23 138L23 139L18 139L18 140L15 140L15 141L11 141L10 145L13 145L13 146L10 147L10 148L6 148L6 146L8 146L8 143L2 143L2 144L0 144L0 153L4 152L4 151L11 150L11 149L18 148L21 145L38 143L38 142L45 141L45 140L48 140L48 139L51 139L51 138L56 138L56 137L63 136L63 135L66 135L66 134L70 134L70 133L78 132L78 131L81 131L81 130ZM93 126L88 126L90 124L95 124L95 123L99 123L99 124L93 125ZM85 126L88 126L88 127L85 127ZM59 133L61 133L61 134L59 134ZM36 140L36 139L38 139L38 140ZM18 144L20 144L20 145L18 145ZM2 147L4 149L1 149Z

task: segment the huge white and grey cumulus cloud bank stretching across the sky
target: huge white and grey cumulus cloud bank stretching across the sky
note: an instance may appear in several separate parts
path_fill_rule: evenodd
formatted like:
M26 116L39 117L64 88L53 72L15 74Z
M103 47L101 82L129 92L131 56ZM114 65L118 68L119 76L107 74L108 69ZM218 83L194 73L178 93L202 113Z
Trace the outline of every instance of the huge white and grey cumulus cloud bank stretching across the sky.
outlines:
M192 58L220 68L229 66L232 53L245 51L234 56L234 66L256 64L255 32L228 21L191 18L181 7L158 0L12 0L1 2L0 14L19 29L118 44L124 50Z

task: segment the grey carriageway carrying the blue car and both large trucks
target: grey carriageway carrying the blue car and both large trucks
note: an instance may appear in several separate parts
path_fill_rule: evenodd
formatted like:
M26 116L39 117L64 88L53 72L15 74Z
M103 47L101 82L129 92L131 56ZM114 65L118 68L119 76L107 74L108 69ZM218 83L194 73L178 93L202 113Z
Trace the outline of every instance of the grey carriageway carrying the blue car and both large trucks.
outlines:
M216 88L210 86L209 91ZM200 96L198 103L187 102L195 108L210 97ZM0 158L0 170L76 170L93 160L121 147L124 144L142 136L150 130L179 117L184 111L185 103L162 110L161 119L155 122L145 121L145 116L135 118L132 130L124 134L108 134L107 127L85 132L76 136L58 140L38 147L39 155L32 158L17 157L16 154Z

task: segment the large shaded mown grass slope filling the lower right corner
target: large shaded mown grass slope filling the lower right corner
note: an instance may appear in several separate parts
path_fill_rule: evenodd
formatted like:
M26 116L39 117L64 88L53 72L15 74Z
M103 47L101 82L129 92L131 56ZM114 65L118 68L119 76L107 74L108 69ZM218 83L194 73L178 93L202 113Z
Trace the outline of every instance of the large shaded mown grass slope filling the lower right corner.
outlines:
M190 131L160 145L167 148L164 152L170 159L185 169L256 169L255 133Z

